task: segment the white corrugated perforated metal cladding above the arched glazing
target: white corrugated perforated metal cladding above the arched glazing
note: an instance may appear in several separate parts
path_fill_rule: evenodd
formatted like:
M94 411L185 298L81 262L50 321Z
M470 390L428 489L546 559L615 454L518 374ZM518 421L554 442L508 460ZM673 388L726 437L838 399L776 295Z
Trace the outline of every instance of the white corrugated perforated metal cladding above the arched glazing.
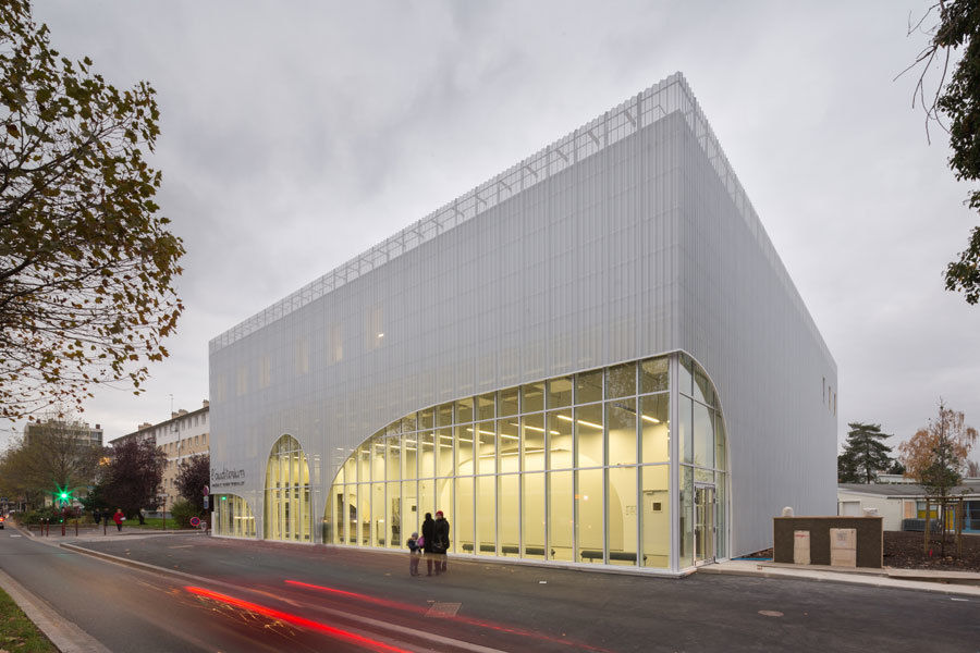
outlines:
M454 215L428 239L211 343L212 467L247 470L236 493L257 516L282 434L309 455L321 515L338 466L407 412L676 349L727 417L733 551L768 541L783 505L833 508L833 359L686 83L609 113L518 185L525 162L493 198L491 182L461 198L469 213L427 218Z

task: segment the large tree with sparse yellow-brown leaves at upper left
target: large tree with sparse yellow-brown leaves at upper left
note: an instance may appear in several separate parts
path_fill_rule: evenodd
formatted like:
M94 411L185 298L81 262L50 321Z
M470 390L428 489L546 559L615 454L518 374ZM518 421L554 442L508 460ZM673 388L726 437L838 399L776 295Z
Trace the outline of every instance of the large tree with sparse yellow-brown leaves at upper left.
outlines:
M182 241L144 160L156 91L120 91L51 49L27 0L0 10L0 416L82 408L97 383L136 394L183 306Z

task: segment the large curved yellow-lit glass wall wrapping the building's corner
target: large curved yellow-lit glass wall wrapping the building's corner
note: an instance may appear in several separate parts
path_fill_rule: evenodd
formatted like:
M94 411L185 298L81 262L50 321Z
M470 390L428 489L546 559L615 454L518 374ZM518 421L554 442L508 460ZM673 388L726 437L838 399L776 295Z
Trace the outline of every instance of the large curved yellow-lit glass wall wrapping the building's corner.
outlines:
M673 447L672 360L687 379L684 393L675 393L687 411L677 438L690 440ZM710 473L710 482L722 488L725 459L713 389L683 355L548 379L405 416L358 446L338 472L323 514L323 542L403 547L426 513L442 510L455 553L670 568L676 534L672 449L684 456L676 531L683 568L694 564L688 485L696 478L699 486L707 483ZM719 526L723 515L718 512Z

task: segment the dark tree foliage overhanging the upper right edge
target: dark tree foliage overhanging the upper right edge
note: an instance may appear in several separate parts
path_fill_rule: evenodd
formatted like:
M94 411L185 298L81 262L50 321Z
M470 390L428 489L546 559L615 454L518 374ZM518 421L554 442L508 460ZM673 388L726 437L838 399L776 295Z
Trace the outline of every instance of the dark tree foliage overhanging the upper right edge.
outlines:
M929 7L909 34L938 17L927 30L929 44L909 69L921 66L912 103L926 110L927 136L931 122L950 134L950 168L959 181L980 180L980 4L976 0L939 0ZM961 57L948 75L953 53L961 49ZM935 94L926 94L926 77L933 63L942 62ZM948 120L948 126L943 118ZM970 193L967 204L980 210L980 190ZM980 300L980 226L975 226L967 248L959 259L946 266L946 289L961 292L967 303Z

